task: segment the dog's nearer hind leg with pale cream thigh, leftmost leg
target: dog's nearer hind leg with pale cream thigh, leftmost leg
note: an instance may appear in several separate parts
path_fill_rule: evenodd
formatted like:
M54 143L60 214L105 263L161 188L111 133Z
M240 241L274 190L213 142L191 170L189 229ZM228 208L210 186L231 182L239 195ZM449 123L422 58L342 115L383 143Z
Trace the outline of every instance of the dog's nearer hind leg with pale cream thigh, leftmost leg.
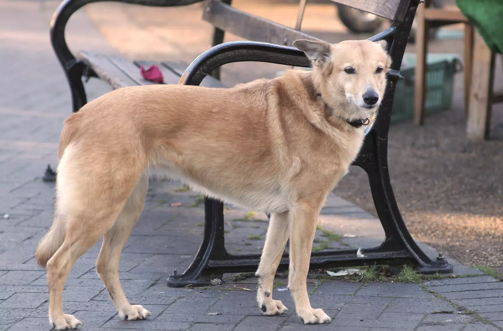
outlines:
M93 152L98 157L90 161L96 156ZM100 152L83 143L68 145L58 165L55 208L65 233L47 262L49 321L58 330L80 324L62 310L64 283L71 267L115 224L144 168L141 155L115 160Z

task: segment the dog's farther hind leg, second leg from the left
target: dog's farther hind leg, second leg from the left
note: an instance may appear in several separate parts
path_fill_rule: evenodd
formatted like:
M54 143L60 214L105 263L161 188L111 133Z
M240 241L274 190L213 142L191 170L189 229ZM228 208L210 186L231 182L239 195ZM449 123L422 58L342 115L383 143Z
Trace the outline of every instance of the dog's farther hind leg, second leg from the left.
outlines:
M119 316L129 320L145 319L150 315L150 312L142 306L129 304L119 281L122 247L143 210L147 187L148 177L144 175L136 184L114 226L105 233L100 255L96 261L96 271L105 283Z

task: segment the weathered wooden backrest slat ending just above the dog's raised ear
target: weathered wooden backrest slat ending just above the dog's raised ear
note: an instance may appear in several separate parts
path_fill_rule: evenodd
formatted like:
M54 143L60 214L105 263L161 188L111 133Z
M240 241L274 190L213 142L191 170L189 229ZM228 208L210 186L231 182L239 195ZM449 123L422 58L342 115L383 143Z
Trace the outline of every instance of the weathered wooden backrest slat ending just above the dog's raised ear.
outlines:
M292 46L292 42L297 39L319 40L276 22L245 13L218 0L204 3L203 19L221 30L253 41Z

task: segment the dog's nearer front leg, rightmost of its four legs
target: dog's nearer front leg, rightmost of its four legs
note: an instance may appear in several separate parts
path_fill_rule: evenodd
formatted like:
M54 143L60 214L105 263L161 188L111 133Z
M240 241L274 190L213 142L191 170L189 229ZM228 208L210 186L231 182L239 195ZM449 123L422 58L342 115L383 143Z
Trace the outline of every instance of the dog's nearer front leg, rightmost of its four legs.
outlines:
M311 247L316 231L319 209L305 201L294 204L290 210L290 266L288 288L295 302L297 315L305 324L329 323L323 309L313 309L307 295L307 272Z

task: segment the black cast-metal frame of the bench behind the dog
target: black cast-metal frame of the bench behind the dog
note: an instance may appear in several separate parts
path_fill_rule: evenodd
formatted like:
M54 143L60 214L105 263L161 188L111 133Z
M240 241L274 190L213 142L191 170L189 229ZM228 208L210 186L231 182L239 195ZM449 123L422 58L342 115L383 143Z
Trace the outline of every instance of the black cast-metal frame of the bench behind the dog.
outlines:
M63 66L71 90L73 111L87 103L82 77L96 76L88 65L76 59L69 51L64 38L64 29L69 17L80 7L103 0L66 0L55 13L51 23L51 42ZM146 6L184 6L201 0L114 0ZM391 26L370 40L388 41L388 52L392 59L388 73L386 93L378 116L372 127L367 128L360 154L353 163L363 168L369 176L369 183L375 208L385 232L385 239L378 247L365 249L364 258L357 258L357 250L330 250L312 252L310 268L332 268L362 265L400 266L410 264L420 273L450 273L452 266L439 255L431 260L417 246L409 234L396 204L391 187L387 164L388 129L396 81L401 60L409 36L417 5L422 0L393 0L398 4L396 12L389 13L379 2L388 0L334 0L358 9L393 20ZM398 3L399 2L399 3ZM301 4L305 4L305 0ZM370 5L368 5L370 3ZM367 6L367 7L365 7ZM368 10L370 6L371 11ZM299 15L300 15L299 11ZM303 10L302 10L303 12ZM284 27L274 22L243 13L230 7L230 0L209 1L204 16L210 16L215 26L213 47L198 56L185 70L179 84L199 85L203 78L212 75L219 78L219 67L232 62L259 61L291 66L309 67L304 53L294 47L285 46L296 39L316 39L300 31ZM233 24L240 22L240 24ZM251 28L251 27L255 27ZM300 26L299 26L300 27ZM299 28L298 27L298 28ZM258 29L258 30L257 30ZM225 31L245 36L249 40L222 43ZM263 42L268 41L268 42ZM273 43L271 43L273 42ZM257 270L260 255L231 255L225 249L223 204L218 200L205 199L204 238L194 261L183 273L177 271L169 277L167 284L173 287L187 285L209 285L213 278L221 278L224 273L253 272ZM288 269L288 256L281 259L278 270Z

